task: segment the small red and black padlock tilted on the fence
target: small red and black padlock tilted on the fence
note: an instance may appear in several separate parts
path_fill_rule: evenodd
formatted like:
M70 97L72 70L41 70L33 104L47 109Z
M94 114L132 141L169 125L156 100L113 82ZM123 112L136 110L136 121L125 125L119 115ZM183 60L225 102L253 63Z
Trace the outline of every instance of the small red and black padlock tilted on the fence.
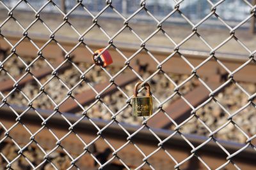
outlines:
M108 50L105 50L99 57L97 57L97 59L95 59L95 56L99 55L99 53L101 53L102 50L104 50L104 48L95 51L92 55L92 60L97 66L106 67L113 62Z

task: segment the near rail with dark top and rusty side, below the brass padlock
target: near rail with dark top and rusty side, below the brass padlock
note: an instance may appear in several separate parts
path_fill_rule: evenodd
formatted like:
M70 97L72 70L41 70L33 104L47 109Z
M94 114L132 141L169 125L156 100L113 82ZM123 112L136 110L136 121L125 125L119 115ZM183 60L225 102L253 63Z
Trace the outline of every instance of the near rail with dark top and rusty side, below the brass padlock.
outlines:
M19 115L25 109L15 106L11 107L15 109L15 111L17 111ZM0 112L1 122L3 122L2 124L4 124L5 127L3 129L3 133L1 134L2 142L4 141L3 139L8 137L15 139L15 141L26 141L25 143L28 143L29 139L35 139L35 141L37 143L40 143L42 147L48 148L50 150L56 146L60 148L61 146L65 146L66 151L70 152L73 155L79 155L83 151L87 152L87 148L90 146L90 144L88 144L87 146L83 145L81 142L79 142L79 140L75 139L75 136L72 136L71 134L79 134L79 136L85 141L90 141L90 139L95 138L95 136L97 136L97 133L99 133L99 131L95 129L94 125L89 120L82 120L81 123L77 124L74 127L72 133L70 134L72 138L65 137L66 139L64 139L63 142L58 143L58 140L56 140L56 138L54 138L54 136L52 136L51 133L49 133L49 129L54 129L54 133L60 139L63 136L65 136L65 134L67 134L67 132L69 131L68 129L70 129L70 126L67 125L67 122L63 119L63 117L68 118L70 123L73 125L77 121L77 117L74 116L74 114L63 113L62 115L56 114L54 117L50 118L47 121L47 124L44 125L44 130L40 134L33 134L34 138L31 138L32 135L28 134L28 132L24 131L24 129L21 127L22 125L26 125L29 128L29 131L31 132L36 132L38 131L38 129L41 129L42 120L38 118L38 115L36 115L35 111L28 110L26 114L20 117L19 122L22 124L18 124L17 128L14 128L12 130L9 130L8 127L12 127L12 125L16 123L17 117L14 115L13 111L10 110L10 108L8 108L8 106L2 107ZM38 112L40 112L40 115L43 118L47 118L51 114L51 112L44 110L38 110ZM104 139L109 139L111 145L116 147L122 146L124 145L124 143L127 142L136 143L136 145L140 146L140 149L143 150L143 152L145 152L147 155L149 155L154 150L157 150L157 148L160 148L161 151L168 150L172 155L175 156L176 160L180 161L188 157L191 154L191 150L193 150L193 148L191 148L191 146L189 146L188 143L184 141L182 136L175 135L172 136L172 138L170 138L170 136L173 134L173 131L167 131L163 129L152 129L152 131L154 131L159 136L160 139L170 138L167 141L165 141L163 145L159 145L163 141L159 142L156 138L152 138L152 134L150 133L150 131L147 130L147 128L143 129L143 131L141 131L140 134L132 136L132 134L140 128L139 126L120 124L127 130L127 132L129 132L129 134L126 134L122 130L122 128L120 128L120 125L115 124L111 127L108 127L107 129L104 129L104 127L107 124L109 124L109 122L95 119L93 119L93 122L99 127L100 131L102 132L100 139L97 140L97 143L95 144L98 151L104 151L109 148ZM185 135L185 137L189 140L189 142L193 144L193 146L201 145L202 143L207 141L207 139L209 139L206 137L204 138L202 136L195 135ZM45 141L45 139L47 141ZM12 143L12 141L9 142ZM229 143L227 141L214 142L214 140L212 139L209 143L207 143L207 145L205 145L205 147L200 148L200 150L195 152L196 155L199 155L201 159L207 162L208 166L211 167L211 169L215 169L216 167L220 166L221 164L229 160L227 159L228 155L225 152L223 152L223 150L221 150L217 144L225 147L225 149L230 153L237 152L238 150L243 148L243 146L245 146L239 143ZM84 148L84 150L81 150L81 148ZM61 150L61 152L64 152L64 150ZM134 150L132 145L127 145L126 147L122 148L122 150L118 151L115 155L109 154L108 159L110 159L111 157L122 155L122 153L125 153L124 157L122 157L122 160L131 168L140 166L140 164L142 164L143 161L147 161L147 159L145 159L145 157L143 157L143 155L141 155L140 152L136 152ZM136 159L132 159L134 157L136 157ZM83 158L83 164L85 164L86 166L91 165L92 167L88 168L93 168L92 157L87 158L88 159ZM246 150L237 154L235 157L232 157L230 160L236 162L236 164L238 164L239 167L241 167L241 169L255 169L255 158L256 152L249 145L246 148ZM74 159L76 158L74 157ZM170 157L168 157L167 154L164 154L164 152L162 154L156 153L153 156L153 159L150 160L152 160L152 162L150 163L152 163L152 165L154 165L154 168L156 169L163 168L163 164L165 165L164 168L172 169L174 165L174 162L172 162ZM70 162L72 161L70 160ZM112 163L122 166L121 162L118 159L114 159ZM69 166L71 165L72 164L70 163ZM182 165L182 169L194 169L195 167L196 169L205 168L202 165L202 163L196 158L191 159L184 165ZM143 167L143 169L150 168Z

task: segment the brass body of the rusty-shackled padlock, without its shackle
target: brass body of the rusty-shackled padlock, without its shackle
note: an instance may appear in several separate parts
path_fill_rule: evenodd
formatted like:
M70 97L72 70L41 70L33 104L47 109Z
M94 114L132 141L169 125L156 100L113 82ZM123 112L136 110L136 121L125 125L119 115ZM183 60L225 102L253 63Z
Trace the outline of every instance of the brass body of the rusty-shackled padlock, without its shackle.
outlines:
M152 97L133 97L132 115L134 117L149 117L152 115Z

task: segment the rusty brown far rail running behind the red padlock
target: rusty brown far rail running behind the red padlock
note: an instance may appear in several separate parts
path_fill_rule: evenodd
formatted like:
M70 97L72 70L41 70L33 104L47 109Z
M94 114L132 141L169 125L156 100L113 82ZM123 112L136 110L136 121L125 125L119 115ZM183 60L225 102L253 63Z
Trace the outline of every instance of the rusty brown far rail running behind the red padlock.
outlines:
M23 37L21 35L21 33L17 32L4 32L4 37L7 38L9 41L15 43L19 42L19 40ZM44 46L44 44L49 41L48 36L44 36L41 34L31 33L30 36L33 37L33 41L38 46ZM85 50L84 46L81 45L81 43L77 39L58 36L58 42L61 44L61 46L63 46L63 48L70 50L68 52L70 55L74 55L74 57L72 57L73 62L92 63L92 53L90 53L88 50ZM86 39L85 43L93 50L105 48L106 46L108 46L108 42L106 41L95 41L93 39ZM3 49L10 48L10 45L8 45L8 43L6 43L3 38L0 39L0 45ZM20 56L26 56L31 58L38 57L38 51L35 48L31 48L31 42L28 39L24 39L22 43L17 43L16 45L16 53L18 53ZM198 74L199 76L209 77L220 74L223 78L228 79L229 73L227 73L227 71L225 71L225 69L223 69L223 67L221 67L218 62L216 62L216 59L221 61L222 64L230 69L230 71L236 70L246 61L248 61L248 56L234 55L230 53L218 53L215 54L216 58L207 59L211 56L207 52L179 50L180 53L173 53L173 50L168 48L168 46L148 46L148 48L150 48L150 52L148 52L143 50L143 48L138 48L138 46L140 47L140 45L138 44L115 42L115 45L118 46L118 49L120 49L125 57L127 57L127 60L125 60L124 57L122 57L122 55L120 55L120 53L118 53L115 48L109 48L109 52L111 53L111 55L113 55L113 64L115 66L124 67L125 63L129 62L129 57L132 57L134 58L133 60L136 60L136 62L129 62L130 66L136 67L138 63L141 63L143 66L147 65L147 71L156 71L157 69L160 69L156 61L150 57L150 55L154 55L154 57L159 61L159 64L163 64L161 69L164 72L175 74L192 74L191 67L189 67L188 64L184 62L182 57L180 57L180 53L182 53L182 55L184 55L184 57L186 57L186 59L188 59L194 67L198 67L202 62L208 60L202 67L200 67L199 69L195 69L196 74ZM73 50L74 46L77 46L76 50ZM58 59L60 56L63 55L63 51L57 43L49 43L47 46L44 46L44 48L42 48L41 52L42 55L47 59ZM136 55L134 55L134 53L136 53ZM169 59L168 62L165 61L166 58ZM234 74L234 79L236 81L256 83L254 74L255 71L256 66L252 60L252 62L248 63L246 67L240 69L236 72L236 74Z

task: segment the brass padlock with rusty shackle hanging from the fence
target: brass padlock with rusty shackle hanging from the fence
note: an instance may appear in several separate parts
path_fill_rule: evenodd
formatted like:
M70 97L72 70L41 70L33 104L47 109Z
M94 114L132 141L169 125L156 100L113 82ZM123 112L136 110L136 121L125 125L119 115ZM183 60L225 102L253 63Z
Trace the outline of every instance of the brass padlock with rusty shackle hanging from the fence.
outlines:
M145 83L147 96L137 96L138 86L141 83L142 81L139 81L134 87L134 97L132 97L132 115L134 117L148 117L152 115L152 97L150 95L150 86L148 83Z

